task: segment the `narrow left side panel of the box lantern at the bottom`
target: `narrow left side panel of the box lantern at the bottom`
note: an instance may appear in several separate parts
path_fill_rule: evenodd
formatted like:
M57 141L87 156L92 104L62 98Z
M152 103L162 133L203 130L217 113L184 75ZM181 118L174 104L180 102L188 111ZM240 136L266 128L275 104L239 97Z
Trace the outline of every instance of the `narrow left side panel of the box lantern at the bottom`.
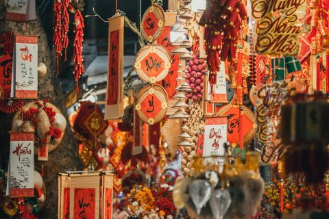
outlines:
M69 175L58 175L58 219L67 219L70 216L70 184Z

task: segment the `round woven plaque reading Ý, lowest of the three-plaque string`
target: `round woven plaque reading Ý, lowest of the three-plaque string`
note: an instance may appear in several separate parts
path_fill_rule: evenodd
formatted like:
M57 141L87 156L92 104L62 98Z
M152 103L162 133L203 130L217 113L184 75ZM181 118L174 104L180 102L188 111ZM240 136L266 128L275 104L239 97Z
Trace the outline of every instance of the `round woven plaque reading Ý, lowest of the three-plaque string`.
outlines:
M153 125L166 115L168 95L166 90L157 84L145 86L138 94L135 109L145 123Z

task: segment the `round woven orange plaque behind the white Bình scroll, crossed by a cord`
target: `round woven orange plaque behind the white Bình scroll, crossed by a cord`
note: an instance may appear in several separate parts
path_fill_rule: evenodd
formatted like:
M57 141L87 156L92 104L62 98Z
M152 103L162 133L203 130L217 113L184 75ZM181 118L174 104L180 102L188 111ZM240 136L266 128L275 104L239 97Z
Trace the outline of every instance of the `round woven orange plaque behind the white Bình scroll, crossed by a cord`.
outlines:
M249 144L249 142L254 138L257 125L254 113L249 110L249 108L243 105L242 121L240 121L239 106L230 104L224 105L221 109L219 109L217 114L219 116L228 117L228 142L230 142L232 146L239 145L239 131L241 129L244 144Z

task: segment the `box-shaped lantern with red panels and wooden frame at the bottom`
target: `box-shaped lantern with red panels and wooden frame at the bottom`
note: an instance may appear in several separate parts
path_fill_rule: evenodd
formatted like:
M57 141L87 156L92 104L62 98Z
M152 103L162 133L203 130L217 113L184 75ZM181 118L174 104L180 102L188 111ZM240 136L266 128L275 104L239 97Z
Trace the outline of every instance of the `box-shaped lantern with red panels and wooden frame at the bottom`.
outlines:
M104 172L60 174L58 219L112 219L113 177Z

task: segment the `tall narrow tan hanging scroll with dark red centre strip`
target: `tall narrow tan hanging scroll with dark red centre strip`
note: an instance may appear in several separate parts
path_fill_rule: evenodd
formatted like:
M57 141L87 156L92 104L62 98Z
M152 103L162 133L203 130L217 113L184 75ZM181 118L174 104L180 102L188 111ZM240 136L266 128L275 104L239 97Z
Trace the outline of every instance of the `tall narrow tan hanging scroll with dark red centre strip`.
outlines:
M108 83L104 120L123 116L123 16L114 16L108 23Z

